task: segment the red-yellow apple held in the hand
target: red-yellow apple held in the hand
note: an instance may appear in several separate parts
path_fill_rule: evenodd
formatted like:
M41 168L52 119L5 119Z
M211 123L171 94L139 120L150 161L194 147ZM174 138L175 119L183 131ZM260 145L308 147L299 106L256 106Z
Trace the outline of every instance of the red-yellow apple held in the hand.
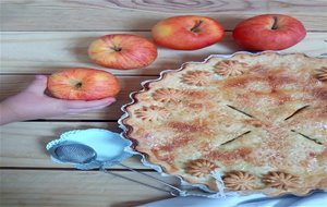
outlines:
M53 73L48 78L48 92L68 100L96 100L113 97L120 85L111 73L87 68L72 68Z

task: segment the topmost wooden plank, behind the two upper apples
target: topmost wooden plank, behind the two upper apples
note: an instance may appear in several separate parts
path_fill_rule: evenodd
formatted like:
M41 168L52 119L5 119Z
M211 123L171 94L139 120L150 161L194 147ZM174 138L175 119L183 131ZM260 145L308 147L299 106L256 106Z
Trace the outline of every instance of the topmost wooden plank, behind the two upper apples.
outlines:
M148 31L159 20L182 14L217 19L231 31L241 20L263 13L284 13L310 31L326 31L325 0L216 1L44 1L2 0L2 31Z

